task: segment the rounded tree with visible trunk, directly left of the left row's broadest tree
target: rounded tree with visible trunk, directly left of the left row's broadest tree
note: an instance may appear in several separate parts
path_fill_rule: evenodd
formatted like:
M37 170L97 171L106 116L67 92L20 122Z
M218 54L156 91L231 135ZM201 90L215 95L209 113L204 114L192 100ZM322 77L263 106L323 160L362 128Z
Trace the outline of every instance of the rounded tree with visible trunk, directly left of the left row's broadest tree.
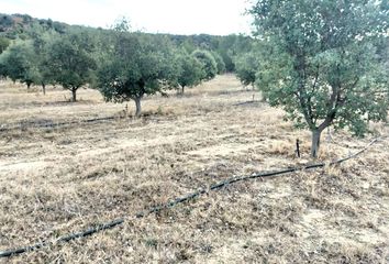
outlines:
M74 32L55 37L47 46L51 79L70 90L73 101L77 101L77 90L93 79L91 45L82 32Z

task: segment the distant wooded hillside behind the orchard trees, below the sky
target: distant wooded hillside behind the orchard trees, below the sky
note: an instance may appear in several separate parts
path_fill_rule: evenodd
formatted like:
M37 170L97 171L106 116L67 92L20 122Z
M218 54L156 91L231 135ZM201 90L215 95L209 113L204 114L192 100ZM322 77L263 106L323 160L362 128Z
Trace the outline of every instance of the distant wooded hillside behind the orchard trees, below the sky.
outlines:
M82 30L87 32L89 35L95 35L98 41L102 41L109 36L108 30L102 29L92 29L85 28L78 25L68 25L65 23L56 22L51 19L34 19L30 15L23 14L0 14L0 36L4 36L10 40L31 40L34 38L34 34L40 32L41 34L45 34L53 32L58 34L67 34L75 30ZM129 21L123 18L116 21L116 24L111 28L114 31L123 31L129 32ZM229 35L229 36L215 36L208 34L198 34L198 35L173 35L173 34L156 34L153 37L168 37L171 40L175 46L179 48L185 48L189 54L194 52L196 50L205 50L212 53L214 59L216 61L218 73L224 72L234 72L235 65L233 62L233 57L237 56L241 53L248 52L251 46L251 42L253 38L243 35ZM107 43L105 41L102 41ZM223 62L220 61L219 56ZM93 56L99 54L93 54ZM223 66L224 64L224 66ZM224 69L225 67L225 69Z

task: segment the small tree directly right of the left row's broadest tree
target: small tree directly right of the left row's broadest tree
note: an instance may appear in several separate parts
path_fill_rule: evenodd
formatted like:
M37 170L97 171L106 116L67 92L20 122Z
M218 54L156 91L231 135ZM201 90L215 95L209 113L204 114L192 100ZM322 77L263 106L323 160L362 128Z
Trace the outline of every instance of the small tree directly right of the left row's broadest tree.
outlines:
M184 95L186 87L193 87L201 82L204 73L202 64L186 52L178 53L176 63L178 64L177 84L181 87L181 95Z

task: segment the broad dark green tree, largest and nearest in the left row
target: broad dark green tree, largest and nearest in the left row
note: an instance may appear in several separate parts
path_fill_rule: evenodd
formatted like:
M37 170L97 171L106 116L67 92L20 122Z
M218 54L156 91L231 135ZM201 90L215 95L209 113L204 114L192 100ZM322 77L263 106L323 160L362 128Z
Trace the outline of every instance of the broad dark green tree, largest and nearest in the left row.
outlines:
M113 51L98 70L97 88L107 101L134 100L138 117L143 97L163 92L175 79L170 44L129 32L115 32L112 38Z

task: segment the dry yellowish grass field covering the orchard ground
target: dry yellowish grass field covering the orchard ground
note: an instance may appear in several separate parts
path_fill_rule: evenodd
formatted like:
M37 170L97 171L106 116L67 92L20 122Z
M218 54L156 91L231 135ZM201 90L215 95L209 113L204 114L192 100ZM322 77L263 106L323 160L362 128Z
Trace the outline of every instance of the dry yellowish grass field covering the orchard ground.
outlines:
M336 167L238 183L134 219L233 175L312 163L310 133L232 75L182 97L146 98L140 119L133 102L126 112L95 90L69 98L0 84L0 251L129 220L0 263L389 263L388 139ZM116 118L82 122L102 117ZM320 160L373 138L324 133Z

